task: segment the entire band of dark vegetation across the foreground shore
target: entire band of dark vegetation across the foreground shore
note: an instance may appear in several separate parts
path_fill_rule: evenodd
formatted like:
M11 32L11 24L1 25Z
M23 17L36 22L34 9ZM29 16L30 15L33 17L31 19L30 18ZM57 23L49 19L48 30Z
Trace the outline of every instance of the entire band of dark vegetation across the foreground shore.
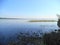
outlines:
M2 36L0 38L0 45L6 44L4 40L5 38ZM20 32L10 37L6 45L60 45L60 29L45 34L39 32Z

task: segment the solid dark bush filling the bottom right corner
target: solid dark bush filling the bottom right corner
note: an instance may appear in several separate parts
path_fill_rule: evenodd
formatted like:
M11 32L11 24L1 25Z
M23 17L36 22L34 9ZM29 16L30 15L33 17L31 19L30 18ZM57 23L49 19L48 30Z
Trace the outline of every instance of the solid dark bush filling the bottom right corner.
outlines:
M60 29L43 35L43 42L46 45L60 45Z

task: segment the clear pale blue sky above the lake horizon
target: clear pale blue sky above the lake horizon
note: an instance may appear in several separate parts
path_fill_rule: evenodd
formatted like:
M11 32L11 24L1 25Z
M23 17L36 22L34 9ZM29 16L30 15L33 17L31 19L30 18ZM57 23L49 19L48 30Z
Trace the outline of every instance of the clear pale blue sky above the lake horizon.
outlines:
M60 0L0 0L0 17L57 18Z

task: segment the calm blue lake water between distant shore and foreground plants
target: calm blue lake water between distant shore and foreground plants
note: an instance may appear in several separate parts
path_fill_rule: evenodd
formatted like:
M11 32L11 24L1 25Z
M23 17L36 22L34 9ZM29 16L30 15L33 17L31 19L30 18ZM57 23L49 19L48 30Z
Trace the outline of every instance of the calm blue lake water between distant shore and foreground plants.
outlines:
M57 22L27 22L27 20L0 20L0 33L5 36L27 31L50 32L57 28Z

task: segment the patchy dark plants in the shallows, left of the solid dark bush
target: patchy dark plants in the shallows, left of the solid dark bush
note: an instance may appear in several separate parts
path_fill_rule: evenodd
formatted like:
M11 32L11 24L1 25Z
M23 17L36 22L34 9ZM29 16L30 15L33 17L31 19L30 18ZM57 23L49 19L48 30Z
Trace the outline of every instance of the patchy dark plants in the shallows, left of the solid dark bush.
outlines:
M41 45L42 38L39 33L20 33L17 35L16 40L9 41L8 45Z

